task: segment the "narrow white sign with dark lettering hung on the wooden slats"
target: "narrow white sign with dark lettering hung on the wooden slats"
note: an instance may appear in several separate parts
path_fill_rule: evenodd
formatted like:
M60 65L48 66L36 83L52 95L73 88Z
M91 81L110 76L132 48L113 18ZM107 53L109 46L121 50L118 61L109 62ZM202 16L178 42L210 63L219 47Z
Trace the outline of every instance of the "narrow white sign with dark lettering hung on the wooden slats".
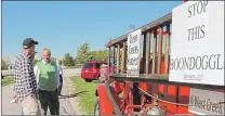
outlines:
M128 36L127 77L140 76L141 36L141 29L130 33Z

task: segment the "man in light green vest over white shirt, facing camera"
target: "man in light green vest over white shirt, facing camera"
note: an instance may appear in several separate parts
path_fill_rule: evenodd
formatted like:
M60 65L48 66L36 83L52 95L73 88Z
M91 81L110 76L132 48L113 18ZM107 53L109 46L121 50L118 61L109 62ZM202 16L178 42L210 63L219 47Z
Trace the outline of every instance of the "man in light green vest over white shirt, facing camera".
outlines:
M35 75L38 81L39 100L43 115L47 115L48 106L51 115L59 115L59 102L57 92L58 72L55 61L51 61L49 49L42 51L42 61L35 66Z

